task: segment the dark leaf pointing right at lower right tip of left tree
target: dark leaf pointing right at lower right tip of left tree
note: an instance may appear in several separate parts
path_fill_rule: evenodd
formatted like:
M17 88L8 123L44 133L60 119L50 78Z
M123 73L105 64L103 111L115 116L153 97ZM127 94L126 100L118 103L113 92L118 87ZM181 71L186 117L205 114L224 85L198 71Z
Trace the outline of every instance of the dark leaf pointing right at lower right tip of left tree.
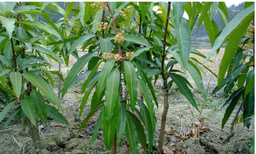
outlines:
M47 117L50 117L51 119L58 121L61 124L68 125L67 119L60 112L58 112L55 107L51 105L46 105L46 114Z

